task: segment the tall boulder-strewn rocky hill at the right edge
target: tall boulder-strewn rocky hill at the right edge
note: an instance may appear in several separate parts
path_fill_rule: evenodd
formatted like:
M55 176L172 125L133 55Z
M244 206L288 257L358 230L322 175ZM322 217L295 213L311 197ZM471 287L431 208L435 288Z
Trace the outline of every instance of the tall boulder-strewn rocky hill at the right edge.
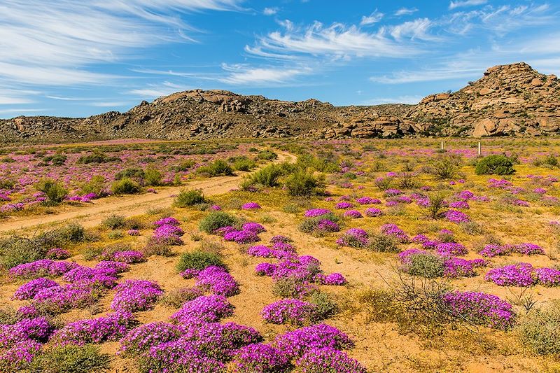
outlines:
M405 119L452 136L557 134L560 81L524 62L493 66L457 92L422 99Z

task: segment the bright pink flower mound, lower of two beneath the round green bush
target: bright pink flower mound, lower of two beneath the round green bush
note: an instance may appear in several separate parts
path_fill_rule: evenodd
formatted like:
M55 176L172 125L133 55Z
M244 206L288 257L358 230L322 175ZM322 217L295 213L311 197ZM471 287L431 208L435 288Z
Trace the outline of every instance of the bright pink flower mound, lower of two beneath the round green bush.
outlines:
M171 320L183 325L215 323L232 314L233 306L223 295L202 295L183 304L183 307L171 316Z

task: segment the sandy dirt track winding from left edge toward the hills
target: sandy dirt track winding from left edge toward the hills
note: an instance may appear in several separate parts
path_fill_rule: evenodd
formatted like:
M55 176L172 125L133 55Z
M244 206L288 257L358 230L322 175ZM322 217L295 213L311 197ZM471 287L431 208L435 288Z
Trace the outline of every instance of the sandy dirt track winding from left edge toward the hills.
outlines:
M293 154L276 151L278 159L275 162L294 162ZM141 215L147 209L169 207L173 203L172 196L181 190L200 189L204 195L221 195L232 188L237 188L239 181L246 173L236 176L221 176L202 181L193 181L186 185L161 189L157 194L127 195L121 197L107 197L97 199L85 206L72 207L68 211L51 215L18 217L0 222L0 235L14 230L29 230L45 225L55 225L65 220L78 220L84 227L99 225L104 218L113 213L125 217Z

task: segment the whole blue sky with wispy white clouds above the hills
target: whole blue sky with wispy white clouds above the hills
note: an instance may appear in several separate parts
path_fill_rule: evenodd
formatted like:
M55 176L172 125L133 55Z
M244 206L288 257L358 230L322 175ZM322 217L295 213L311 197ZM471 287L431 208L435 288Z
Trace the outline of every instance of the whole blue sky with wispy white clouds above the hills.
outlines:
M560 73L559 0L0 0L0 118L196 88L415 104L521 61Z

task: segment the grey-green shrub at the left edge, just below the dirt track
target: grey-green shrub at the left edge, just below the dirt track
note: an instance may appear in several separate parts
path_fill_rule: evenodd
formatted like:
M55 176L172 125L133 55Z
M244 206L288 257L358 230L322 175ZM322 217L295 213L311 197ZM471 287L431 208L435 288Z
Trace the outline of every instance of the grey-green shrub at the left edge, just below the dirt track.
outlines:
M0 266L6 269L23 263L43 259L47 249L36 241L23 237L8 237L0 240Z

